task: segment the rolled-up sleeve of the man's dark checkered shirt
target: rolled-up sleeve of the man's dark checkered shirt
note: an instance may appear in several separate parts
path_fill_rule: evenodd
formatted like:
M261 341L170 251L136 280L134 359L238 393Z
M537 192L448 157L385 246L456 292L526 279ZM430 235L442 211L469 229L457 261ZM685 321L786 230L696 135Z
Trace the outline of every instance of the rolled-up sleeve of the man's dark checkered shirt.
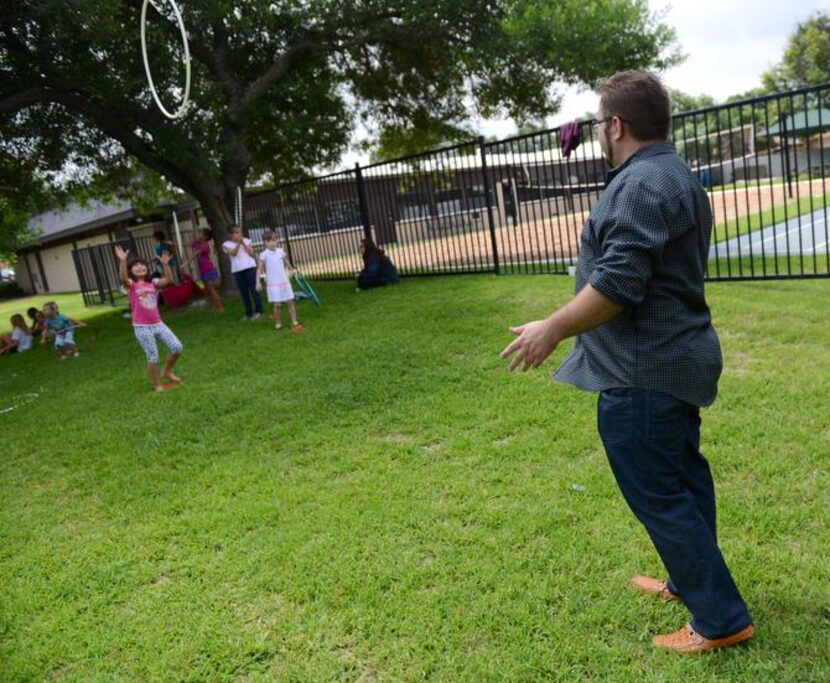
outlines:
M600 253L591 286L620 306L640 303L669 237L660 197L640 183L627 184L596 230Z

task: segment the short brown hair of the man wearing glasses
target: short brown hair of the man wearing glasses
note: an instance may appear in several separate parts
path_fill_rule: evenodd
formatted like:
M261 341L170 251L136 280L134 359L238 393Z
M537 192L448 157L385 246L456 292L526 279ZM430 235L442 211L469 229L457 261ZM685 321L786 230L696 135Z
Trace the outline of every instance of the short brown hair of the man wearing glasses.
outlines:
M620 71L597 86L603 116L619 116L638 140L668 140L671 100L648 71Z

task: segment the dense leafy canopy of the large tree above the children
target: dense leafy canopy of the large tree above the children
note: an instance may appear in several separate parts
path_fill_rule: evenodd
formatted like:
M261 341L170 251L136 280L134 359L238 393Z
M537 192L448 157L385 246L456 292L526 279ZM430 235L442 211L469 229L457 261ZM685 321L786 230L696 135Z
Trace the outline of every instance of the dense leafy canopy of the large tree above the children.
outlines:
M171 121L147 86L141 4L3 4L0 153L97 196L163 178L219 234L235 187L336 163L358 125L405 151L465 134L473 116L541 118L564 86L679 59L642 0L180 0L192 108ZM153 5L151 68L174 108L181 41L166 0Z

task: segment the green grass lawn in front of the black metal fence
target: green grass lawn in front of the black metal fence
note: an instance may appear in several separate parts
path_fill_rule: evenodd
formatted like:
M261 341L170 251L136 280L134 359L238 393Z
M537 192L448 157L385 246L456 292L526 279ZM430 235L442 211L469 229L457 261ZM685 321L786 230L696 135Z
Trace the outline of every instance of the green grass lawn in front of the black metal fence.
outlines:
M687 613L626 588L660 563L595 397L548 380L570 343L498 358L572 286L322 283L304 335L169 314L165 394L119 312L77 360L0 358L0 678L830 679L830 281L708 288L704 451L758 635L700 658L654 651Z

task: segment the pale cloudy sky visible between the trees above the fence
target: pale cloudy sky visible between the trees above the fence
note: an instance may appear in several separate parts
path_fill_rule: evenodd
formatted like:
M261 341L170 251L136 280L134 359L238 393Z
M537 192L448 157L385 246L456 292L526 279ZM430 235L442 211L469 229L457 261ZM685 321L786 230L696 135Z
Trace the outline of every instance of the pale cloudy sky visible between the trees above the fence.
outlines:
M662 74L670 88L690 95L711 95L721 102L761 85L761 74L781 60L799 22L828 10L828 0L649 0L653 11L677 33L686 60ZM547 120L551 127L595 111L593 92L567 91L561 110ZM484 136L506 138L516 131L510 120L474 123ZM340 168L363 163L348 154Z

